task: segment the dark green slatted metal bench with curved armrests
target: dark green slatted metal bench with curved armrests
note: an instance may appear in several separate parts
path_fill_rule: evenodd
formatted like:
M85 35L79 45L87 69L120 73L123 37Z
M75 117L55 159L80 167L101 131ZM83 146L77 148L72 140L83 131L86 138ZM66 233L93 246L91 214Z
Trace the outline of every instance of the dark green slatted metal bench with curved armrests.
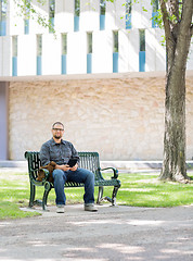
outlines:
M97 203L100 204L103 200L108 200L112 202L112 206L116 206L116 195L120 187L120 181L117 179L118 171L114 167L100 167L100 160L98 152L78 152L80 157L79 167L87 169L94 173L95 183L94 186L99 187L99 194ZM46 178L42 182L36 181L38 176L38 170L41 166L40 157L38 151L26 151L25 158L28 161L28 173L29 173L29 182L30 182L30 198L29 198L29 207L31 208L38 200L35 201L36 196L36 186L44 186L44 192L42 197L42 209L46 210L47 199L50 190L54 187L52 183L48 181L49 171L44 170ZM113 176L111 179L104 179L101 171L111 170L113 171ZM113 186L112 197L103 197L103 187L104 186ZM67 187L83 187L81 183L73 183L67 182L65 184L65 188ZM41 202L41 201L40 201Z

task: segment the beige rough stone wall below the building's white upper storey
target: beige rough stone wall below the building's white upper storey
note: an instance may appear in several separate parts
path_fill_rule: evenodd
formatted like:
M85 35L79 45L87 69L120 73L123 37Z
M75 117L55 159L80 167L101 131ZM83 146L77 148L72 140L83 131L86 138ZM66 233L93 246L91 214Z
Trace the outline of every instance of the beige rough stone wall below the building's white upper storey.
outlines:
M193 157L193 77L186 80L188 159ZM65 139L101 160L160 160L165 77L10 83L10 159L23 160L65 125Z

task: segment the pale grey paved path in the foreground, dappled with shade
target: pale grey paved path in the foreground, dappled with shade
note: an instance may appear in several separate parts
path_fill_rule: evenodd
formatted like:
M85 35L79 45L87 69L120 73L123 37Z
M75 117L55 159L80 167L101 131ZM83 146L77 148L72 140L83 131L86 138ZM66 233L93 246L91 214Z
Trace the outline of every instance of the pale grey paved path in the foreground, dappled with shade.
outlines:
M50 207L41 216L1 221L0 260L193 260L193 206L65 209L64 214Z

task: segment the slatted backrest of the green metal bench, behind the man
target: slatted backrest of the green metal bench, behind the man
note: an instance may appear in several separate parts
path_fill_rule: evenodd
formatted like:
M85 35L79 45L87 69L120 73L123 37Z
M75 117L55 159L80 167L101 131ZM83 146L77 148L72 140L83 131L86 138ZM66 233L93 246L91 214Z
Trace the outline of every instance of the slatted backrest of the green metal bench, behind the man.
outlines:
M103 179L100 171L100 160L98 152L78 152L80 157L79 166L95 174L95 181ZM39 151L26 151L25 158L28 161L29 175L36 179L38 170L41 166Z

